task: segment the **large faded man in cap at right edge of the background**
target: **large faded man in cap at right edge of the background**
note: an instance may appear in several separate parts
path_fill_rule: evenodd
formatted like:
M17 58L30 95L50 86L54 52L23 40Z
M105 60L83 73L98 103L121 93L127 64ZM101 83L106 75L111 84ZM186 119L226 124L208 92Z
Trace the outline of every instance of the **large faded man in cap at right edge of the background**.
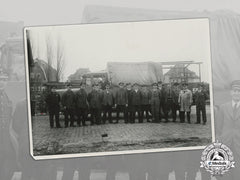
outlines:
M240 162L240 80L231 83L231 100L222 104L216 114L216 139L233 152L234 161ZM240 166L230 170L229 175L217 179L239 179ZM225 178L224 178L225 177Z

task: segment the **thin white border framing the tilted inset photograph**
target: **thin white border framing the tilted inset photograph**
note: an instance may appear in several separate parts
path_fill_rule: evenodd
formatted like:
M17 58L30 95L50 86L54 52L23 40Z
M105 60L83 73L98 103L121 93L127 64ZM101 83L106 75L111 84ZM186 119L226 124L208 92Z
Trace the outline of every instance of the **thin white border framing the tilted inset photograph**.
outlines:
M24 53L25 53L25 72L26 72L26 89L27 89L27 108L28 108L28 130L30 141L30 155L35 160L47 159L63 159L63 158L77 158L77 157L96 157L108 155L123 155L123 154L142 154L142 153L158 153L158 152L174 152L174 151L187 151L187 150L203 150L206 146L191 146L191 147L174 147L174 148L154 148L142 150L124 150L124 151L106 151L106 152L91 152L91 153L73 153L73 154L57 154L57 155L34 155L33 153L33 136L32 136L32 116L31 116L31 102L30 102L30 79L29 79L29 64L28 64L28 49L27 49L27 30L39 27L65 27L65 26L88 26L88 25L103 25L103 24L124 24L124 23L141 23L141 22L156 22L156 21L178 21L178 20L194 20L205 19L208 21L208 38L209 38L209 53L210 62L208 62L209 71L209 93L210 93L210 112L211 112L211 134L212 142L215 142L215 120L214 120L214 99L213 99L213 83L212 83L212 53L211 53L211 33L210 33L210 20L208 17L197 18L176 18L176 19L161 19L161 20L143 20L143 21L120 21L120 22L104 22L104 23L90 23L90 24L66 24L66 25L41 25L41 26L28 26L23 29L24 36Z

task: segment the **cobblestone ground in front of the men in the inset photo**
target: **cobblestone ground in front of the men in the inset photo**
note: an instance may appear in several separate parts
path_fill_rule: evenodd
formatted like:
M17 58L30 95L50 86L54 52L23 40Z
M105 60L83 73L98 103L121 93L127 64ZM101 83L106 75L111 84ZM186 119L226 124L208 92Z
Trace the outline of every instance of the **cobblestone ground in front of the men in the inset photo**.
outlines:
M50 129L48 116L35 116L32 122L33 149L35 155L49 155L202 146L211 142L209 106L207 118L206 125L194 124L196 112L192 107L192 124L146 121L125 124L120 121L119 124ZM61 124L64 125L63 117ZM108 134L108 137L102 139L102 134Z

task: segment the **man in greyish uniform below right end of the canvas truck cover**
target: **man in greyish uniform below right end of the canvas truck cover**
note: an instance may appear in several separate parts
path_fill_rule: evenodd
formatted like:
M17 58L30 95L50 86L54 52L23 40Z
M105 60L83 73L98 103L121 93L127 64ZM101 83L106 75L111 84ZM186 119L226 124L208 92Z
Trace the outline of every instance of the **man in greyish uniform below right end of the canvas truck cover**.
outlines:
M160 99L161 99L161 92L158 89L157 83L152 85L152 90L150 92L150 104L151 104L151 113L152 113L152 122L158 123L160 122L159 115L160 115Z

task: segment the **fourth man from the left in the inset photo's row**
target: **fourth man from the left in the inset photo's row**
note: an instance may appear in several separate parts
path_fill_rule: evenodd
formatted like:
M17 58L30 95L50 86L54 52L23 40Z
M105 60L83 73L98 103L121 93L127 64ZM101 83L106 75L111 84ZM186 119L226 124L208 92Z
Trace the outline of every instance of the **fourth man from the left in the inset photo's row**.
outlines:
M101 124L102 92L98 84L93 85L93 90L88 95L88 102L91 112L91 125Z

